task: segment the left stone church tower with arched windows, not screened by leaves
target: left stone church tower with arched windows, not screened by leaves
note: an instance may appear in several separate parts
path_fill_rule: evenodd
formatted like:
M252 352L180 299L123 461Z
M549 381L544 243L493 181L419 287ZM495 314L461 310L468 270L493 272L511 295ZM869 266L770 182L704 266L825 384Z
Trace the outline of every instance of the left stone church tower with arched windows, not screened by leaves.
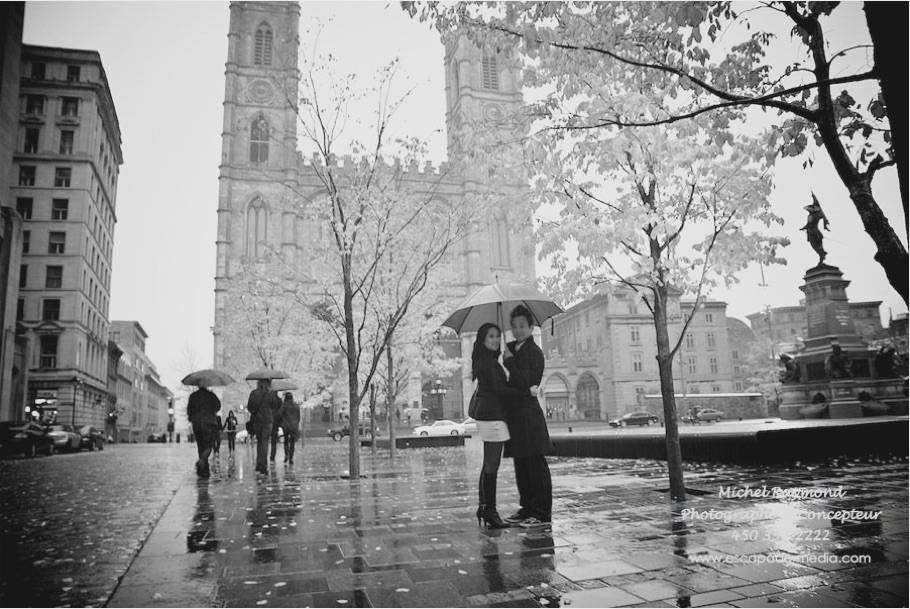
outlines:
M218 178L215 361L224 365L225 285L269 246L296 249L297 2L231 2Z

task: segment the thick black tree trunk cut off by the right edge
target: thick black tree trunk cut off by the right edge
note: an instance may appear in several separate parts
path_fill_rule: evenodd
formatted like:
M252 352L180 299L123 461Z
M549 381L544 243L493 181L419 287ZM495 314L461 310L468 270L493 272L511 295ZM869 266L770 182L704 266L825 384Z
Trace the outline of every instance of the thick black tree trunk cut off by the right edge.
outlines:
M872 38L872 58L882 86L882 97L891 123L891 147L897 163L897 179L904 223L907 212L907 40L895 36L895 23L907 23L906 2L864 2L866 24ZM904 267L906 269L906 266ZM905 273L906 274L906 273ZM906 297L904 298L906 300Z

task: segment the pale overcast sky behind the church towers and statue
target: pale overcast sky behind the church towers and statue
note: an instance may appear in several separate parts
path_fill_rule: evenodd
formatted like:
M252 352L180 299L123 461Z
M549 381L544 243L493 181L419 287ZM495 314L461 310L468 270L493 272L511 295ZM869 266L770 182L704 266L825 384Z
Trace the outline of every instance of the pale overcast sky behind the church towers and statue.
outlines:
M861 3L840 26L865 35ZM111 319L138 320L149 334L147 352L164 382L174 388L186 360L212 362L218 164L221 156L227 2L28 2L24 42L95 50L110 83L123 138L114 234ZM410 20L398 2L302 2L301 37L324 24L319 50L332 52L347 70L370 74L394 57L399 82L414 86L406 108L411 135L428 139L434 162L445 155L443 49L438 35ZM873 261L874 247L861 230L846 189L824 154L814 167L780 163L775 211L786 220L789 264L741 276L734 291L713 296L729 303L728 315L745 320L765 305L798 304L805 270L817 257L799 228L803 205L814 191L830 222L827 263L852 283L852 301L881 300L906 311ZM885 172L883 172L885 173ZM876 194L906 243L894 172L877 178ZM542 272L542 270L540 271Z

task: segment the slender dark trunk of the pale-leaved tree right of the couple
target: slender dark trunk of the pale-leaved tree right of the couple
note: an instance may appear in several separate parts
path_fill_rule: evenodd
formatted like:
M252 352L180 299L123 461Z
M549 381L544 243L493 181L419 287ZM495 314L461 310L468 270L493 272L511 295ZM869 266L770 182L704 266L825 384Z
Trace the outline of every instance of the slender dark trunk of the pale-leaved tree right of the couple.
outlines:
M670 497L677 501L686 498L683 480L682 450L679 446L679 425L676 417L676 392L673 388L673 354L667 331L667 289L658 286L654 299L654 329L657 331L657 369L660 374L660 394L663 397L666 426L667 467L670 473Z

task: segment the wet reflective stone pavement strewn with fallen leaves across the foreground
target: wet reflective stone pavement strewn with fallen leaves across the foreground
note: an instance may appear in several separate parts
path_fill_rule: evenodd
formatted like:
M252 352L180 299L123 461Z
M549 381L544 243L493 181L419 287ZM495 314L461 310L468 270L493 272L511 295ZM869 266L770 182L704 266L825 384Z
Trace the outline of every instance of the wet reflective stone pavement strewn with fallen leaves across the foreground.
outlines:
M473 516L480 447L400 450L394 463L364 448L355 484L347 444L323 439L293 467L279 449L267 476L248 446L233 460L222 449L208 480L191 444L3 461L0 602L907 606L906 459L689 465L683 503L662 463L553 459L552 527L488 531ZM499 489L511 513L509 461Z

